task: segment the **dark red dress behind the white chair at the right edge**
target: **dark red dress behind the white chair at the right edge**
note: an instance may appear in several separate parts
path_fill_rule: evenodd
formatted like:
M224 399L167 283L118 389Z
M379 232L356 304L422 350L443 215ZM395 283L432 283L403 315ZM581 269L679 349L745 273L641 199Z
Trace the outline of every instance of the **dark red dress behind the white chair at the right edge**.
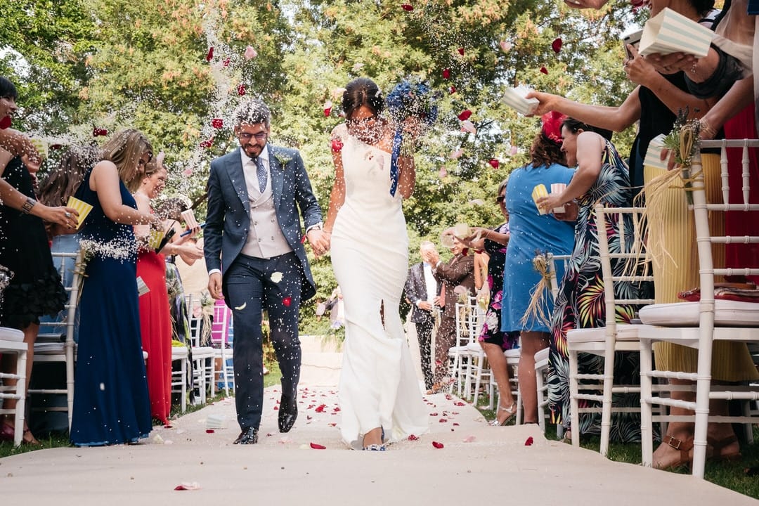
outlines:
M731 118L725 124L726 139L756 139L757 130L754 123L754 104ZM730 203L743 203L742 197L742 156L743 148L727 150L728 174L730 184ZM757 149L748 149L748 170L751 187L749 202L759 203L759 160ZM759 212L728 212L725 218L725 228L728 235L756 235ZM728 267L759 267L759 244L728 244L726 247L726 263ZM752 281L759 282L759 276L749 276Z

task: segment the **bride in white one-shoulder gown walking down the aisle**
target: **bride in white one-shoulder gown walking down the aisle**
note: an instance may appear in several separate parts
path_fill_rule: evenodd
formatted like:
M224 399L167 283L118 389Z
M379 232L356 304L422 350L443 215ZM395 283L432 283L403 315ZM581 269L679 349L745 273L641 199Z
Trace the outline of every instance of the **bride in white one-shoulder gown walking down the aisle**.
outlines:
M414 159L398 158L396 189L394 132L379 116L383 105L370 79L345 87L346 121L332 131L335 183L324 226L345 303L340 430L352 448L376 451L429 429L398 313L408 272L402 200L414 191Z

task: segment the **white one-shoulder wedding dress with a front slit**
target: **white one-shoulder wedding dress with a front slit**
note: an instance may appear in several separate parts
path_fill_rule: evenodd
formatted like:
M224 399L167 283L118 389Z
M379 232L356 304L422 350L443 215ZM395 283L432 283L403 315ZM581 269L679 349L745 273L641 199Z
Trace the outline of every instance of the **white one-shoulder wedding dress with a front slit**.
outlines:
M364 434L379 426L390 442L429 426L398 313L408 234L400 192L390 195L390 153L348 135L345 125L336 133L345 177L331 253L345 303L340 431L348 445L361 448Z

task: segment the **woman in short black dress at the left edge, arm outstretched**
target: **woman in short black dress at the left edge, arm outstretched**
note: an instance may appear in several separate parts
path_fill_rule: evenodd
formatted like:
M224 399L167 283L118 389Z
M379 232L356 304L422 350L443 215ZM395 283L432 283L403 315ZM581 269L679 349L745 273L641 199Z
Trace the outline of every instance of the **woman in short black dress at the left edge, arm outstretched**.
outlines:
M10 80L0 77L0 119L10 118L17 109L18 93ZM27 164L39 168L41 159L30 140L10 128L0 130L0 265L14 272L0 306L0 326L24 332L27 344L27 388L32 372L34 342L39 333L39 317L55 315L63 309L66 293L61 277L52 266L43 219L67 227L74 226L77 212L65 206L49 207L35 200L33 181ZM0 372L15 374L16 362L5 354ZM16 384L4 379L5 385ZM3 407L13 409L15 399L5 399ZM14 417L5 416L0 439L14 439ZM39 445L24 424L23 441Z

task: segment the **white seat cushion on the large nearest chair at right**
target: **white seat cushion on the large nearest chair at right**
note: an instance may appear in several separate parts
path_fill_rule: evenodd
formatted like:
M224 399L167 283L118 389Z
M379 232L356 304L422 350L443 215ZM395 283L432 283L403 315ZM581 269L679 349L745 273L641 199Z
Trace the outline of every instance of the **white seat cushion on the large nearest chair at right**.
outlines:
M698 302L651 304L641 308L641 321L663 327L698 327ZM738 300L714 301L714 325L723 327L759 326L759 303Z

